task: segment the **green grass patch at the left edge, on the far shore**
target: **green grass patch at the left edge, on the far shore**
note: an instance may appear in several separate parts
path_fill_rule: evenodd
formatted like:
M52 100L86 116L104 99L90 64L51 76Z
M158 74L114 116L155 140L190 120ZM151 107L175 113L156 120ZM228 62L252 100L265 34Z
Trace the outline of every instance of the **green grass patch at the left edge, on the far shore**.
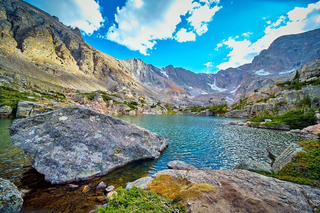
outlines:
M36 101L35 99L28 99L28 96L33 96L28 92L20 92L12 87L0 86L0 106L10 106L12 109L17 108L19 101Z

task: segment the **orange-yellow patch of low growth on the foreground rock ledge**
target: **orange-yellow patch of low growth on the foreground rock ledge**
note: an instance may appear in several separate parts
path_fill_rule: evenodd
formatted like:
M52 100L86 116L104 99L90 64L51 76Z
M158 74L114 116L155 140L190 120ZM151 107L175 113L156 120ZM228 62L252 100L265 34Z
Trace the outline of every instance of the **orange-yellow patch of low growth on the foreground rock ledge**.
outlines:
M167 199L195 199L204 192L215 192L216 188L207 183L191 183L186 178L159 175L147 187L148 190Z

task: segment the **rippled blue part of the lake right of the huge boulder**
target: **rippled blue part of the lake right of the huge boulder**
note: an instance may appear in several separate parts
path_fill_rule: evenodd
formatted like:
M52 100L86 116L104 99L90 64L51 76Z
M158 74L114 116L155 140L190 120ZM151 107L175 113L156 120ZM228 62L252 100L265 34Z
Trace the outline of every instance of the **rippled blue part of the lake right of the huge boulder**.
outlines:
M149 173L183 160L199 168L232 169L245 159L270 162L266 147L282 147L302 139L284 131L230 125L235 119L193 115L119 115L131 124L167 136L169 147Z

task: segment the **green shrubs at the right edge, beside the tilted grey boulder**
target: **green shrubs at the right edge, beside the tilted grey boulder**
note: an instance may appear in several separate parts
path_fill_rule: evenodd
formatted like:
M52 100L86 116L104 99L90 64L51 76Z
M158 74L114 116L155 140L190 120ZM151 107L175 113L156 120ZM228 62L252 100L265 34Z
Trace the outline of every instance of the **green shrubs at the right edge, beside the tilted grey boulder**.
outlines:
M277 173L268 176L299 184L320 187L320 140L305 140L299 145L302 152L296 153L292 160Z

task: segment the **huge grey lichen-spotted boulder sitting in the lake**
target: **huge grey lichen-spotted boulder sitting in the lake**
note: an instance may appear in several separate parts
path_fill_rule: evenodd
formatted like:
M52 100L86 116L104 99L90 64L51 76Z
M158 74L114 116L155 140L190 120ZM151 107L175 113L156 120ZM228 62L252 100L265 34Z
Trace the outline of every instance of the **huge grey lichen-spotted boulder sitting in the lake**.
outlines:
M15 120L12 141L51 183L86 180L141 159L157 158L168 139L82 106Z

